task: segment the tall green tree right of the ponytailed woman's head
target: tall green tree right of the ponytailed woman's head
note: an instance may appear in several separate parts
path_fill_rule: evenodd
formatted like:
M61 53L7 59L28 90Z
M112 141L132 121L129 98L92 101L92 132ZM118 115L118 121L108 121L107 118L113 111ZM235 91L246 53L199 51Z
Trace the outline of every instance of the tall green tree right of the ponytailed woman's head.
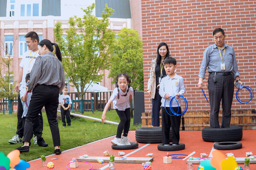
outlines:
M102 19L92 14L95 3L83 9L83 18L70 17L66 38L62 37L61 23L55 24L54 35L63 56L63 67L69 81L76 87L80 99L84 99L86 84L100 82L104 74L101 71L109 68L111 45L115 32L108 29L108 17L113 9L105 6ZM89 86L88 86L89 87ZM80 112L84 112L84 102L81 101Z

